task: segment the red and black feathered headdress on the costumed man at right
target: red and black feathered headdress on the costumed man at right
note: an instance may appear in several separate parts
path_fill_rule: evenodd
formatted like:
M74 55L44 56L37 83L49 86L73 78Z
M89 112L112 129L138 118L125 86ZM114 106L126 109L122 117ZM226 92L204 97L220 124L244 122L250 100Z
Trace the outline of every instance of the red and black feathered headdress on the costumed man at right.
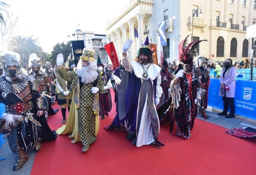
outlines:
M191 43L187 43L188 41L188 35L185 40L181 41L178 46L179 51L179 61L183 62L184 64L189 64L193 66L193 58L196 55L196 48L198 44L202 41L207 40L199 40L199 41L193 41Z

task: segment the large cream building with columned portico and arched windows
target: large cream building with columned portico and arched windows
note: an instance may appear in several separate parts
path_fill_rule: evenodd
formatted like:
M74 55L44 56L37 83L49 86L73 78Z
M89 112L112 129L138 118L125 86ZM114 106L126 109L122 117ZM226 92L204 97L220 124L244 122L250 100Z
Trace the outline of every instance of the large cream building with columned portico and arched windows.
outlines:
M256 22L254 0L129 0L119 13L107 22L106 38L113 41L118 56L126 39L133 39L130 56L149 36L157 45L157 55L166 61L178 60L178 44L186 36L200 43L198 54L210 61L251 58L256 42L246 40L246 28ZM162 46L159 25L165 21L167 46ZM135 37L134 30L138 31ZM189 42L190 42L189 41ZM252 44L253 42L253 44Z

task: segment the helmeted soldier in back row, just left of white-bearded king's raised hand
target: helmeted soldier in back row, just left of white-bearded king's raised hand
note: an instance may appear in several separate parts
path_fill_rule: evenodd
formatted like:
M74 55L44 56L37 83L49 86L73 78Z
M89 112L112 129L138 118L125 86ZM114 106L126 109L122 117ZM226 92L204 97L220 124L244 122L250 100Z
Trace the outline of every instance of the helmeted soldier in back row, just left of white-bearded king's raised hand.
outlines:
M51 101L51 104L55 104L55 101L56 101L56 78L57 78L57 75L56 75L56 72L53 69L51 63L49 63L49 62L46 62L45 73L48 75L48 82L50 83L50 88L52 90L52 95L51 95L52 96L52 101ZM50 92L48 92L48 93L50 93ZM49 108L52 108L51 106L52 105L49 105ZM52 112L53 110L51 109L50 111ZM51 113L49 115L51 115Z

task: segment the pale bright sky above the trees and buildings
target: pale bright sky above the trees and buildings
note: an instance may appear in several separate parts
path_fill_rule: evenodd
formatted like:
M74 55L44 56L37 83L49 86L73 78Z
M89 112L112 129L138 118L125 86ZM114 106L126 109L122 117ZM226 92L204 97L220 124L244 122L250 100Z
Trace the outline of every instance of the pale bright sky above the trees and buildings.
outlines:
M57 43L72 40L72 34L77 29L106 34L107 21L119 14L121 7L128 3L127 0L2 1L10 6L9 13L19 17L14 35L33 36L48 53Z

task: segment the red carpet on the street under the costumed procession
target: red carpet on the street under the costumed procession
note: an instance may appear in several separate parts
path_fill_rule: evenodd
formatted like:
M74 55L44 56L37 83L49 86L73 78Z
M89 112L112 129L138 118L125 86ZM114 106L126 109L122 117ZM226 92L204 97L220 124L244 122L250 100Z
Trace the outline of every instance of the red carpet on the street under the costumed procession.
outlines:
M103 129L114 116L113 102L109 116L100 120L97 141L87 152L81 152L82 144L71 143L68 135L42 143L31 174L255 174L255 139L231 136L221 126L196 119L190 139L170 134L166 122L160 130L162 149L138 148L125 140L125 132ZM48 120L52 129L59 128L61 121L60 111Z

